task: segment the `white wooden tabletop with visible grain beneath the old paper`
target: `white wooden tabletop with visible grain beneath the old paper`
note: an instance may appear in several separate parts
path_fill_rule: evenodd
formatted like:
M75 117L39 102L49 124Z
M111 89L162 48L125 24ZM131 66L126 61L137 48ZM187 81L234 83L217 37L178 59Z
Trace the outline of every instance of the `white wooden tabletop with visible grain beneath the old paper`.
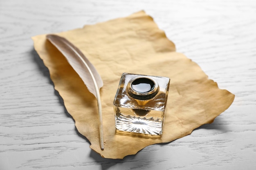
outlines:
M236 98L189 136L104 159L76 131L30 37L140 10ZM255 170L256 1L0 0L0 170L16 169Z

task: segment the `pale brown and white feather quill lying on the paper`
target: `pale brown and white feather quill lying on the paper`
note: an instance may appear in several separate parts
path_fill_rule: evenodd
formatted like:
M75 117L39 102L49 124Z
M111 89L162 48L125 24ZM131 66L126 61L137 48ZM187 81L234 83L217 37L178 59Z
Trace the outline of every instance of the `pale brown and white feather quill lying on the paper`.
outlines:
M103 150L103 122L99 93L99 89L103 86L101 76L97 72L96 68L85 57L85 55L83 55L83 53L71 42L63 37L52 34L47 35L46 38L66 57L69 64L83 80L90 93L92 93L96 97L99 114L100 146L101 150Z

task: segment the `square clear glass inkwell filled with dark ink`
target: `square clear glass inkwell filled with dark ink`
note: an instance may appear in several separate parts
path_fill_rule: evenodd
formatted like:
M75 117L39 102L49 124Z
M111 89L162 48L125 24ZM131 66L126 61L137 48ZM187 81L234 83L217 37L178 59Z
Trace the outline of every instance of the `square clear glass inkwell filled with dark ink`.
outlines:
M169 84L168 77L123 73L113 103L117 132L162 135Z

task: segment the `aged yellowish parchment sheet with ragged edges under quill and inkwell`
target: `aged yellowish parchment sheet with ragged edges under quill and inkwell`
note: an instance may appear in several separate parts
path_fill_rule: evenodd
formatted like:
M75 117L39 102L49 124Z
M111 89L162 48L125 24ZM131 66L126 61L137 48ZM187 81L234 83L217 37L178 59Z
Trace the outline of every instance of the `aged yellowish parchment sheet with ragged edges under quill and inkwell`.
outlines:
M209 80L198 64L176 53L173 42L143 11L58 35L78 47L103 79L101 102L105 149L102 151L99 147L95 97L65 57L46 42L45 35L32 38L34 48L49 69L55 89L75 120L77 130L90 141L90 148L101 157L123 159L146 146L171 142L189 135L195 128L211 123L234 100L234 95L219 89L217 83ZM112 102L123 72L171 79L161 138L116 134Z

